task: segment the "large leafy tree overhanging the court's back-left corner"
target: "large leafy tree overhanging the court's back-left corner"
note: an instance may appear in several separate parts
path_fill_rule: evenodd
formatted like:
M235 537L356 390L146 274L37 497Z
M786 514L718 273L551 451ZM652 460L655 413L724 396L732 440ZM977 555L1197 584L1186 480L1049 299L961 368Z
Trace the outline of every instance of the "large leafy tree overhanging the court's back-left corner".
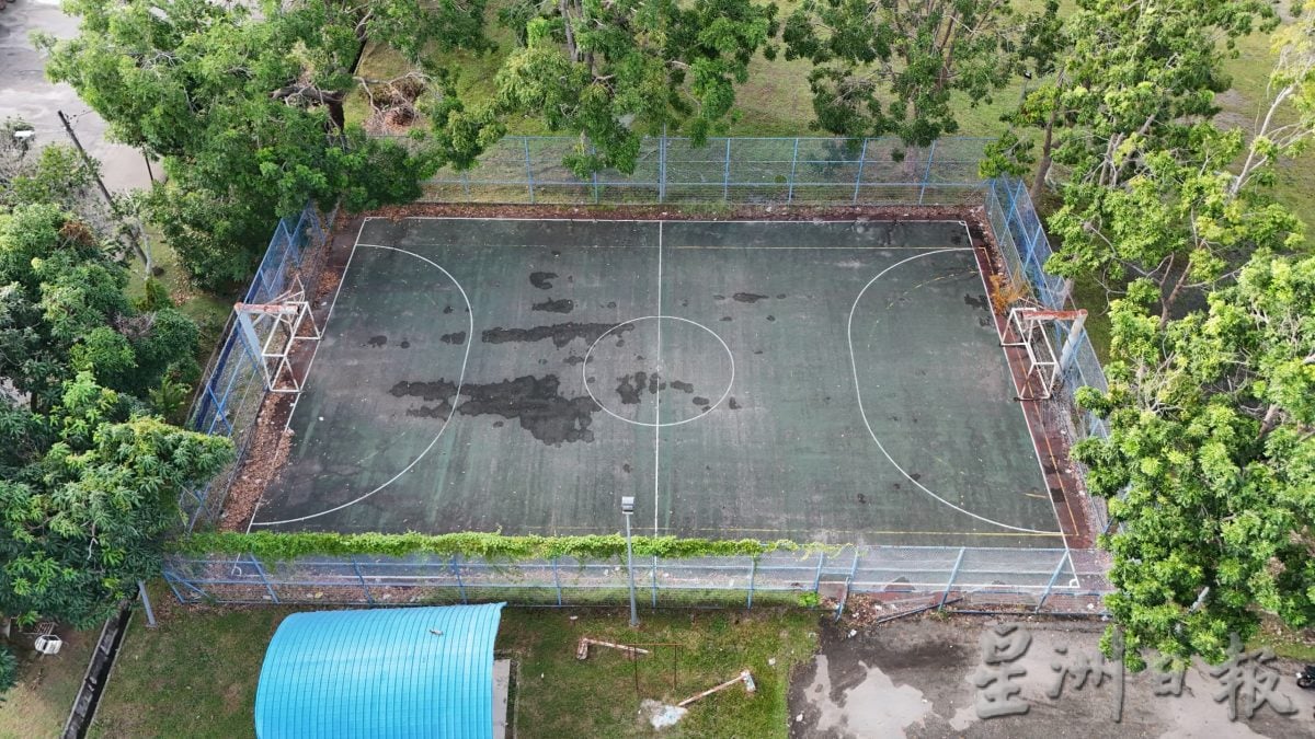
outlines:
M70 0L67 41L38 37L112 135L163 159L150 216L199 281L245 279L277 216L308 200L348 209L414 199L441 158L347 125L347 93L387 97L402 79L448 84L423 51L488 49L483 1L242 4ZM352 74L366 37L417 64L398 79Z

